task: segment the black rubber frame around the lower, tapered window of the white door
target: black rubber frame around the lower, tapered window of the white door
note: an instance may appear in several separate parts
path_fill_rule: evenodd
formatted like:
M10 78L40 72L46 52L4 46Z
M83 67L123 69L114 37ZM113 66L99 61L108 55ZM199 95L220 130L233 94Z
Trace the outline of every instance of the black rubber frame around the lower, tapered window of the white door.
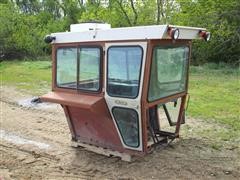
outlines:
M137 146L129 146L128 144L126 144L126 142L125 142L125 140L124 140L124 138L123 138L123 135L122 135L122 133L121 133L121 131L120 131L120 129L119 129L119 125L118 125L118 123L117 123L117 120L116 120L116 117L115 117L115 115L114 115L114 113L113 113L113 111L114 111L114 109L116 109L116 108L118 108L118 109L127 109L127 110L131 110L131 111L133 111L134 113L136 113L137 114L137 127L138 127L138 144L137 144ZM122 139L122 141L123 141L123 143L125 144L125 146L128 146L128 147L131 147L131 148L138 148L139 146L140 146L140 126L139 126L139 115L138 115L138 112L135 110L135 109L133 109L133 108L126 108L126 107L121 107L121 106L114 106L114 107L112 107L112 115L113 115L113 119L114 119L114 121L115 121L115 123L116 123L116 125L117 125L117 128L118 128L118 131L119 131L119 134L121 135L121 139Z

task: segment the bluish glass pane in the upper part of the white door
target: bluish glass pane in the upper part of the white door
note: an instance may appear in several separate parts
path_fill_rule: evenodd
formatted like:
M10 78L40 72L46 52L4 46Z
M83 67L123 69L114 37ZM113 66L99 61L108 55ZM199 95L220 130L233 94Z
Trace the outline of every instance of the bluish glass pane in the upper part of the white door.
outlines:
M137 97L141 63L141 47L110 47L108 49L108 94L116 97Z

